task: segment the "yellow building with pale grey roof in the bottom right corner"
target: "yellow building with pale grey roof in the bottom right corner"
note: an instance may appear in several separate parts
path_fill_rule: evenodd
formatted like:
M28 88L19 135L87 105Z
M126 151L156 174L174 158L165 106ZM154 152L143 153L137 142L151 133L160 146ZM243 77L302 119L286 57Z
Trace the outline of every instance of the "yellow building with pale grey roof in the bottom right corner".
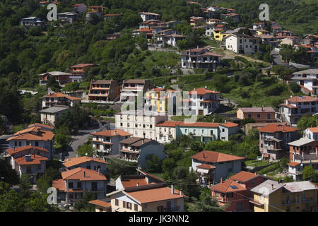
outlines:
M266 180L251 190L254 212L314 211L318 188L311 182L278 183Z

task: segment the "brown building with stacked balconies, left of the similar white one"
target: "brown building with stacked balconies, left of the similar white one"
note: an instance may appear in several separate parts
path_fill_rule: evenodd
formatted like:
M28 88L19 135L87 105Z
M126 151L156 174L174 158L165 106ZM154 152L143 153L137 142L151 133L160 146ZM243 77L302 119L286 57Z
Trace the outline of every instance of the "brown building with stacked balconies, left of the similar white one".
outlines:
M120 86L114 80L93 80L90 81L88 102L106 103L118 100Z

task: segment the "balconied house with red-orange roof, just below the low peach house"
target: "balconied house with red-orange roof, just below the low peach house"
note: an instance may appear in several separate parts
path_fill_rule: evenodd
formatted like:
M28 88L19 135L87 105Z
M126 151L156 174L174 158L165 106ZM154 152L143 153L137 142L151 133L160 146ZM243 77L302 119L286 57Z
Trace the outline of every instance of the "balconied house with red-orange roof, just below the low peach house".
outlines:
M268 124L259 129L259 151L261 158L278 160L289 154L288 143L299 138L298 130L280 124Z

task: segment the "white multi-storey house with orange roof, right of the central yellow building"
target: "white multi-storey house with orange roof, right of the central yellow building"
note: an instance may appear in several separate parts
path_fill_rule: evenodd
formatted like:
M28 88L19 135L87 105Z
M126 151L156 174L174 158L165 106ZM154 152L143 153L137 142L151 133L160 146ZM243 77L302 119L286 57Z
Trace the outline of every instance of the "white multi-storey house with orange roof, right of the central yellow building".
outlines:
M207 115L220 107L220 92L205 88L189 91L189 109L194 115Z

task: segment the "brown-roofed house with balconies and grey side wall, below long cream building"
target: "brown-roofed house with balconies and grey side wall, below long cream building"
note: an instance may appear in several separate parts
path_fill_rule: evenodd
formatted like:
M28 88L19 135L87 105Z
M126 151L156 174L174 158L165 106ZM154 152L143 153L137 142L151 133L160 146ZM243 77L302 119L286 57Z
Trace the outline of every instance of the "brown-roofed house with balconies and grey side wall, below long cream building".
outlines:
M157 141L136 136L119 142L119 158L122 160L137 162L139 167L145 168L148 155L156 155L160 160L163 160L165 158L163 145Z

